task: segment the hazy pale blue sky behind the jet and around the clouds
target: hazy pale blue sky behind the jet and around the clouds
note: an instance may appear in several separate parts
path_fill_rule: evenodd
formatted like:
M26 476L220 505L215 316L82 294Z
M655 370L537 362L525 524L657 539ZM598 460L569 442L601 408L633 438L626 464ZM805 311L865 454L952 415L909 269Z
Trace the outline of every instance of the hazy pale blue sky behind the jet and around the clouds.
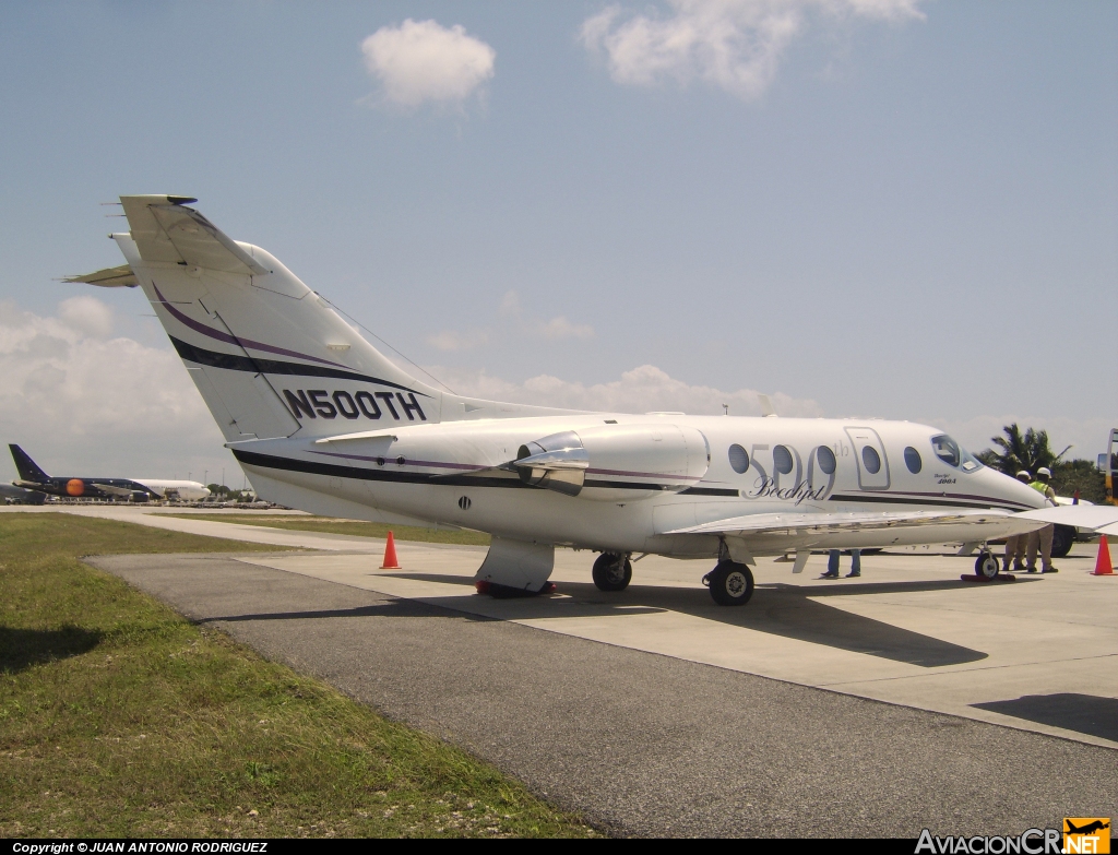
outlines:
M767 72L748 77L741 48L733 85L701 44L646 79L612 53L634 21L714 15L701 0L623 2L597 41L581 34L605 2L4 3L0 301L77 317L59 303L89 292L53 279L120 263L104 235L123 220L98 202L186 193L456 389L608 401L653 365L673 384L648 409L761 390L789 412L942 424L976 449L1021 419L1093 457L1118 426L1118 6L864 11L890 6L794 0ZM742 44L774 8L723 7ZM461 26L490 73L464 97L392 102L362 41L407 19ZM139 293L92 296L107 320L75 353L165 355ZM107 415L42 435L57 407L25 388L34 350L0 353L21 401L0 426L39 435L41 456L152 474L224 459L187 400L127 448L143 431ZM80 410L131 370L58 382ZM136 377L151 398L144 382L180 381ZM749 395L735 411L756 411Z

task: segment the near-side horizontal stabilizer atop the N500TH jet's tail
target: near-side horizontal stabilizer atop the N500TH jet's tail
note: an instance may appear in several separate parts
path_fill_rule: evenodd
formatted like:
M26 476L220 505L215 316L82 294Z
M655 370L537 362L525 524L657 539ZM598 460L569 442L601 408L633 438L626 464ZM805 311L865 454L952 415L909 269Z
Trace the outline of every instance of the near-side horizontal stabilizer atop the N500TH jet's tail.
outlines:
M192 201L178 196L121 197L141 258L224 273L271 273L217 226L186 207Z

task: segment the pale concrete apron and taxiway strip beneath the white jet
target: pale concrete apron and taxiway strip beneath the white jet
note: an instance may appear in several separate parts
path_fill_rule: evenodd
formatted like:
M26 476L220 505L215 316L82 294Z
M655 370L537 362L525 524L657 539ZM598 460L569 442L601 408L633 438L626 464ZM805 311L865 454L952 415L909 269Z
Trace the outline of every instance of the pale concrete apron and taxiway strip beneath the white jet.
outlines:
M397 542L404 569L388 571L379 569L381 540L134 509L51 510L323 550L235 558L550 633L1118 748L1118 739L1051 723L1065 720L1069 705L1101 703L1096 715L1118 710L1118 579L1088 574L1093 548L1086 545L1058 562L1058 574L986 585L959 580L973 572L973 558L935 548L868 555L861 579L837 581L816 578L825 555L813 555L800 576L790 563L761 559L752 601L739 608L711 601L700 581L709 561L648 557L635 564L626 591L604 593L590 582L591 553L558 550L558 593L494 600L473 589L483 547ZM1060 704L1064 714L1051 714Z

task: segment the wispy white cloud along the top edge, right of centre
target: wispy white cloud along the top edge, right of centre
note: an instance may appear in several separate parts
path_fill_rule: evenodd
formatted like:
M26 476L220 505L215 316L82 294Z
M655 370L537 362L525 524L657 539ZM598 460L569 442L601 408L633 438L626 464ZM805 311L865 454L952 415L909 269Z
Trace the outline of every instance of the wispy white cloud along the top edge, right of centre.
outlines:
M669 0L666 15L633 15L610 6L588 18L580 35L589 50L606 53L617 83L685 85L700 79L756 98L813 15L830 22L922 19L920 1Z

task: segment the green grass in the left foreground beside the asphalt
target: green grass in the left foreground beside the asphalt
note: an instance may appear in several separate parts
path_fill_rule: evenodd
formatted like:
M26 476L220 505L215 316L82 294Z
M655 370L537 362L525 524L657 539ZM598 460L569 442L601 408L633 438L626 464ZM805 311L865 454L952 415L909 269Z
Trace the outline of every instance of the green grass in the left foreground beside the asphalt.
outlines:
M258 549L0 515L0 836L594 834L78 560Z

